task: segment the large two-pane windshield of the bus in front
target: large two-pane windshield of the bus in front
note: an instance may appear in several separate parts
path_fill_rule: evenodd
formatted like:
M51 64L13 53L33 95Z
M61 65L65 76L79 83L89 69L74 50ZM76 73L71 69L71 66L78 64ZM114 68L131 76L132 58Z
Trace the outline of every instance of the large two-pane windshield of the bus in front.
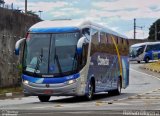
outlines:
M76 46L79 32L28 34L23 71L29 74L64 76L77 70Z

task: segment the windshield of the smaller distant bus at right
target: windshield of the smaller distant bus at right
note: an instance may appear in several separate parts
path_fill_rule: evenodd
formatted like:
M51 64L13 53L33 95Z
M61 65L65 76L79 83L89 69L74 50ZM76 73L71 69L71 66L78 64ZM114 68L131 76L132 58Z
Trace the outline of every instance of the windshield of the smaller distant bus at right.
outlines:
M131 47L130 49L130 56L131 57L137 57L140 54L144 52L145 46L137 46L137 47Z

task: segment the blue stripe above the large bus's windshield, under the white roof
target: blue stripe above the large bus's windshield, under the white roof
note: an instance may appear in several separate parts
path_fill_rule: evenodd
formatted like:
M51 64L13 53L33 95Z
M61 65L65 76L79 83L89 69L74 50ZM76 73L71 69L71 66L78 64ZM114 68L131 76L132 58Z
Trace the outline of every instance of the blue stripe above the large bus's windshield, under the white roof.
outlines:
M31 28L29 32L33 33L63 33L79 31L77 27L54 27L54 28Z

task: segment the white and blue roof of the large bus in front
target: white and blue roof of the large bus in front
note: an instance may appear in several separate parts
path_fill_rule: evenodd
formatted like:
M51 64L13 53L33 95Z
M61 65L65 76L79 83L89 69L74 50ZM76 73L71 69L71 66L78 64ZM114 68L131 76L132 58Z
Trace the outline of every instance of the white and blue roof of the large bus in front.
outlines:
M97 24L95 22L85 20L56 20L56 21L41 21L35 25L33 25L29 32L32 33L58 33L58 32L73 32L83 29L85 27L92 27L99 31L103 31L115 36L119 36L122 38L127 38L124 35L121 35L115 31L108 29L107 27Z

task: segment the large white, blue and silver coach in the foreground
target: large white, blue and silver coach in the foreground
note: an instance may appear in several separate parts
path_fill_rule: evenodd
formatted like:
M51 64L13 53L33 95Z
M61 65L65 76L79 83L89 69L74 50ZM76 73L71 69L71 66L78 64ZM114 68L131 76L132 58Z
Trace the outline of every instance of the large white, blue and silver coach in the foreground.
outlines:
M128 39L92 21L39 22L16 42L15 53L23 53L24 95L41 102L51 96L118 95L129 85Z

